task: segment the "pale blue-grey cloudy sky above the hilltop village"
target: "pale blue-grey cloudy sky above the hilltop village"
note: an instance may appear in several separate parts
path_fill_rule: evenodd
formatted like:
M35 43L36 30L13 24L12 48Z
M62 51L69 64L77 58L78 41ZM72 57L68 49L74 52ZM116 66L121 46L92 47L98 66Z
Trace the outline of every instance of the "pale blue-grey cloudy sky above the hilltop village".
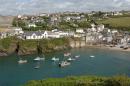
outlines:
M130 10L130 0L0 0L0 15Z

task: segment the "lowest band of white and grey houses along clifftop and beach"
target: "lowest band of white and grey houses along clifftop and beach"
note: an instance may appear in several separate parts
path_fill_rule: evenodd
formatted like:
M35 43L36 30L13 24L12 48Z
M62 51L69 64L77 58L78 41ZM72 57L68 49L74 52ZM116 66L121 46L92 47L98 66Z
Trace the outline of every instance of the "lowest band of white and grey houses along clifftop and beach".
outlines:
M75 31L60 31L54 29L52 31L23 31L22 28L12 27L7 31L0 32L0 39L9 36L17 36L24 40L40 40L40 39L53 39L63 37L75 37L86 40L88 44L114 44L126 45L130 42L130 34L119 32L118 30L105 28L103 24L91 24L91 28L77 28ZM130 43L129 43L130 44Z

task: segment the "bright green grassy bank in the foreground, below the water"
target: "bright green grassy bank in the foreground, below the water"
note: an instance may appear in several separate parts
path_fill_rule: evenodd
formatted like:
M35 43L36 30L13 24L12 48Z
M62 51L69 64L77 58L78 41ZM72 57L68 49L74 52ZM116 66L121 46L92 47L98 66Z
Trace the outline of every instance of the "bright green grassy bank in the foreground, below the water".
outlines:
M46 80L32 80L25 86L130 86L130 78L127 76L96 77L81 76L54 78Z

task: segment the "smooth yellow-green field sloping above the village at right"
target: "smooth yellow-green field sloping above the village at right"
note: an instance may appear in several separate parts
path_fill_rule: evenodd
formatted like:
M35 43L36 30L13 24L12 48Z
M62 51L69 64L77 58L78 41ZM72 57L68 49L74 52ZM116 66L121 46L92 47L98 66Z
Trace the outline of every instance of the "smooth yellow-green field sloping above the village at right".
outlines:
M130 29L130 17L108 18L102 21L97 21L97 23L109 24L110 27L117 29Z

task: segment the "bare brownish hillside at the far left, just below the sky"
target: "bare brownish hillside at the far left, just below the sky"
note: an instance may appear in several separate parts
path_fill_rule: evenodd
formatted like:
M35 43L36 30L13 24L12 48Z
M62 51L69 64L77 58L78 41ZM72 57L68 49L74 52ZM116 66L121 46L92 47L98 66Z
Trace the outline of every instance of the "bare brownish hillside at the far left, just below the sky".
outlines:
M12 26L14 16L0 16L0 27Z

